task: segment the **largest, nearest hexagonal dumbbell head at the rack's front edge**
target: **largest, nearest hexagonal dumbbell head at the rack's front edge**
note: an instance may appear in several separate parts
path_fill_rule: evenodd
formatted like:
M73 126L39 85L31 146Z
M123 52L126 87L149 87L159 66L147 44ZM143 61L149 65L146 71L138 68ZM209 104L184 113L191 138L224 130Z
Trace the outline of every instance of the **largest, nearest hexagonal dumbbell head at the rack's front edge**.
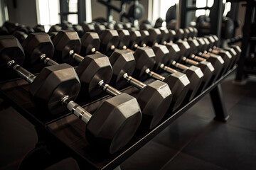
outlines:
M105 146L110 154L127 145L139 128L142 113L136 99L120 94L102 103L87 124L87 140L98 146Z

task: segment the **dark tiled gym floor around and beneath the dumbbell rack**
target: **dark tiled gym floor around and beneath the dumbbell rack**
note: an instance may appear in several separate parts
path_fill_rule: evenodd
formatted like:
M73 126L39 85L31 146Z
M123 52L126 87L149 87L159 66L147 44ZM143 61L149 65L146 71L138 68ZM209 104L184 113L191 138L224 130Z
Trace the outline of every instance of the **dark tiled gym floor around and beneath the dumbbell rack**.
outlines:
M255 169L256 167L256 77L244 86L232 83L235 74L221 84L227 123L213 120L210 96L196 103L153 140L139 149L121 169ZM36 144L33 125L14 108L0 111L0 169L17 169ZM79 169L74 159L50 166Z

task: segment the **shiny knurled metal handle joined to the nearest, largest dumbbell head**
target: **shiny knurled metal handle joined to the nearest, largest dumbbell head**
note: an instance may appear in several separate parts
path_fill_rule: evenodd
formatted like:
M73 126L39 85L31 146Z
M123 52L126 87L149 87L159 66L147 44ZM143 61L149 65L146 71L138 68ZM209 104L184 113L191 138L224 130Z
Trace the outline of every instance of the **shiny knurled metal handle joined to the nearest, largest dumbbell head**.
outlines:
M69 111L71 111L74 115L76 115L80 120L82 120L86 124L92 117L92 114L85 111L85 109L79 106L77 103L75 103L75 101L71 101L69 96L63 96L63 98L61 98L61 102L63 106L66 106Z

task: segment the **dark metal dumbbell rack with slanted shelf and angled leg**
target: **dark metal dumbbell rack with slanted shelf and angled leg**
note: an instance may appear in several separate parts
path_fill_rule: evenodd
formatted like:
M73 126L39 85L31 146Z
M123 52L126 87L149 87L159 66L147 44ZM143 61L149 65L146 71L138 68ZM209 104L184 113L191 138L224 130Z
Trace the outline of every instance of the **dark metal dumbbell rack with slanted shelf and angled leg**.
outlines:
M13 79L0 83L0 96L10 103L24 118L29 120L35 125L36 132L38 133L38 143L36 148L33 149L27 157L23 160L21 165L28 169L28 166L50 166L53 162L59 162L62 159L73 157L80 166L80 169L114 169L119 166L125 159L130 157L134 152L143 147L146 142L149 142L153 137L159 134L164 128L170 125L174 120L188 111L193 104L198 102L206 94L210 94L212 99L213 108L215 110L215 120L225 121L228 119L228 114L223 102L223 94L220 82L223 81L229 74L235 71L237 67L233 67L220 79L215 81L214 84L208 86L201 94L198 94L193 100L188 103L183 103L178 111L171 113L167 111L164 119L153 130L145 130L139 128L132 140L116 154L108 154L107 151L98 147L92 147L85 139L85 124L82 123L72 113L63 113L62 115L50 115L39 111L38 108L33 106L31 98L28 94L28 83L23 79ZM163 76L165 76L163 74ZM153 81L148 79L147 83ZM128 86L122 92L127 94L138 94L138 89ZM78 101L80 106L87 111L93 113L95 109L110 96L102 96L94 101L85 102ZM39 148L39 149L38 149ZM45 149L48 153L43 158L41 152L38 150ZM36 162L36 157L40 161ZM49 160L50 162L47 162ZM33 160L32 162L30 162ZM46 160L46 162L43 162ZM42 163L43 162L43 163ZM38 169L38 168L36 168ZM41 167L41 169L43 169Z

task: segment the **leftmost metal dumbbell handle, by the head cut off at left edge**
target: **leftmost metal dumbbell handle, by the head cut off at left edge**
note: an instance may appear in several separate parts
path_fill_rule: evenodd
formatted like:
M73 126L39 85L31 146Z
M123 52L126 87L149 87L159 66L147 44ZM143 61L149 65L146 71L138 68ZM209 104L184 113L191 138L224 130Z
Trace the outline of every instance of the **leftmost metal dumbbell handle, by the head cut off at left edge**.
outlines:
M20 65L15 64L14 60L7 62L7 66L9 68L14 69L14 71L18 74L18 76L26 80L29 84L31 84L33 80L36 79L36 76L33 75L31 72L28 72L28 70L24 69Z

